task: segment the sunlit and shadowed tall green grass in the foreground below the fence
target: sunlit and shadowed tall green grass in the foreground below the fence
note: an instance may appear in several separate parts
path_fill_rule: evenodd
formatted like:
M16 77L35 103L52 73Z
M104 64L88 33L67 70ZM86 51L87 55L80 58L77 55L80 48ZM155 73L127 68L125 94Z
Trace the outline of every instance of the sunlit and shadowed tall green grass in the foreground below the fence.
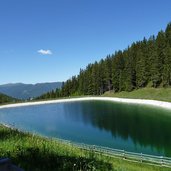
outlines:
M84 151L72 144L19 132L0 125L0 157L9 157L26 171L114 170L169 171L171 169L128 162Z

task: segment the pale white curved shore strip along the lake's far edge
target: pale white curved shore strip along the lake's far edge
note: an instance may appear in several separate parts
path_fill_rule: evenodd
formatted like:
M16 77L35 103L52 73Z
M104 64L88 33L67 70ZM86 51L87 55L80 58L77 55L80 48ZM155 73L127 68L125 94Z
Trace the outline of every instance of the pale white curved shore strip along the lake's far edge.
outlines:
M48 101L38 101L38 102L25 102L25 103L2 105L0 106L0 109L21 107L21 106L31 106L31 105L52 104L52 103L86 101L86 100L102 100L102 101L113 101L113 102L132 103L132 104L145 104L145 105L152 105L152 106L162 107L171 110L171 102L163 102L157 100L144 100L144 99L126 99L126 98L115 98L115 97L82 97L82 98L71 98L71 99L60 99L60 100L58 99L58 100L48 100Z

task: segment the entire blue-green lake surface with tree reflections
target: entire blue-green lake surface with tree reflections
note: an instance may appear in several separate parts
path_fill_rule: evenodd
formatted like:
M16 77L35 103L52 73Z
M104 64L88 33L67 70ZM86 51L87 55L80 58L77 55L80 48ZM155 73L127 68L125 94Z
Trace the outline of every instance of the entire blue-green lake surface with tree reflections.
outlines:
M73 142L171 157L171 111L77 101L0 109L0 123Z

